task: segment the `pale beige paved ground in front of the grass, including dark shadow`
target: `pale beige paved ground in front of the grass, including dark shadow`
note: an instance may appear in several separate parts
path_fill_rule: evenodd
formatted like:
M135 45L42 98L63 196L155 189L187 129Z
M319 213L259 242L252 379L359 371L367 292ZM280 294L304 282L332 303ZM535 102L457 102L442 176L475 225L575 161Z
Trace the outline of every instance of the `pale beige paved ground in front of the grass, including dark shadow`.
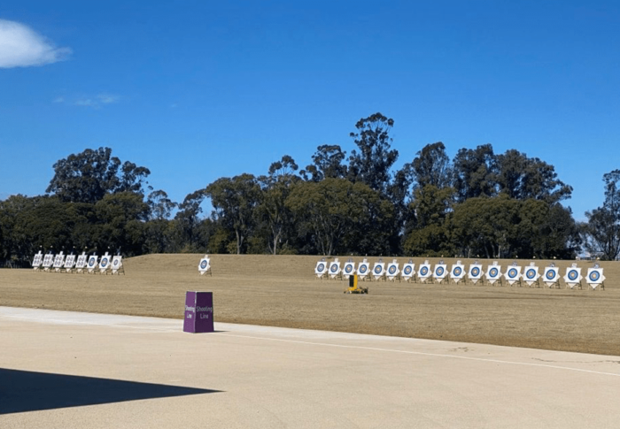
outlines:
M617 427L620 356L0 307L0 427Z

